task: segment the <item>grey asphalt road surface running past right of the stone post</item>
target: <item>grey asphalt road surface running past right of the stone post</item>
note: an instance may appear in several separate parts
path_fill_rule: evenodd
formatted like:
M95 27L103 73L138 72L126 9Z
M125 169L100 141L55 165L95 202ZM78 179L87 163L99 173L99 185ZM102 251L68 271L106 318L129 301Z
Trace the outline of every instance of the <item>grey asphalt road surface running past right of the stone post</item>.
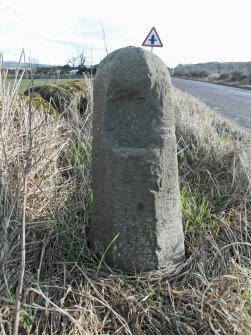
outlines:
M172 84L192 94L224 116L251 129L251 90L172 78Z

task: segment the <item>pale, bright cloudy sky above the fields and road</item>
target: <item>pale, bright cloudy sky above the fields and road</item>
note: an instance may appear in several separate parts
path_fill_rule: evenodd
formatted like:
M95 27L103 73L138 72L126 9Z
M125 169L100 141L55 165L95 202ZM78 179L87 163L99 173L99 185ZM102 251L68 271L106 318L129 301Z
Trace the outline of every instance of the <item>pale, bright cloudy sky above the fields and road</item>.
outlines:
M109 52L141 46L154 26L167 66L251 61L250 0L0 0L0 52L64 65L78 51L89 64ZM102 26L105 38L102 35ZM150 50L150 48L148 48Z

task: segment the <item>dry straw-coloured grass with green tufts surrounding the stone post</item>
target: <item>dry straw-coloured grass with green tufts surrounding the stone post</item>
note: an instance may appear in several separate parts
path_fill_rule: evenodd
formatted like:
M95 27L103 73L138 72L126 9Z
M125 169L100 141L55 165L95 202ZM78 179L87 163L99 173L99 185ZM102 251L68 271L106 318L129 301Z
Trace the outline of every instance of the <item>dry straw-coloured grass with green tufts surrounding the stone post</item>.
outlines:
M0 333L251 332L250 134L173 89L186 261L138 276L88 247L92 86L81 116L34 109L0 77ZM25 215L24 215L25 214Z

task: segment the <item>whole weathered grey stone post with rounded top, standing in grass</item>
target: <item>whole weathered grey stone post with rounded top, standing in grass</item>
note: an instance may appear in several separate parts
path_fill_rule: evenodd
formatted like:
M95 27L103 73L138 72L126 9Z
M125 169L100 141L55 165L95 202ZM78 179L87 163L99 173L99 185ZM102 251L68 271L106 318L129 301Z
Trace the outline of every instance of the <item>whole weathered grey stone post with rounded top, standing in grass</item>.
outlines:
M127 272L181 261L170 76L157 56L127 47L100 63L93 137L93 249L101 257L110 244L106 262Z

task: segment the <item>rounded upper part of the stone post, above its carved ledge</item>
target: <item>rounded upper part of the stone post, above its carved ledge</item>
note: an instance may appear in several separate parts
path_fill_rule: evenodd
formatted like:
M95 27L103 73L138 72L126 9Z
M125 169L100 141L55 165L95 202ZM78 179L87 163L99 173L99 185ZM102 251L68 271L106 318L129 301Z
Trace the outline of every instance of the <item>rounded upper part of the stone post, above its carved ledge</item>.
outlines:
M161 147L169 130L174 129L166 65L139 47L110 53L100 63L94 80L94 109L98 111L94 124L100 134L104 132L109 145Z

